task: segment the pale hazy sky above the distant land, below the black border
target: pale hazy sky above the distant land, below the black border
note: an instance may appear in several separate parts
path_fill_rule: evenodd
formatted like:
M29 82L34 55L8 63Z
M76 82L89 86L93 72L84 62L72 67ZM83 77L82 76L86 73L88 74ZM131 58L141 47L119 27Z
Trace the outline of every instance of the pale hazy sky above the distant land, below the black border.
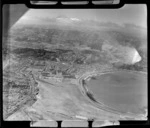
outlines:
M147 28L147 7L144 4L126 4L119 9L30 9L21 19L56 18L58 16L114 22L119 25L131 23Z

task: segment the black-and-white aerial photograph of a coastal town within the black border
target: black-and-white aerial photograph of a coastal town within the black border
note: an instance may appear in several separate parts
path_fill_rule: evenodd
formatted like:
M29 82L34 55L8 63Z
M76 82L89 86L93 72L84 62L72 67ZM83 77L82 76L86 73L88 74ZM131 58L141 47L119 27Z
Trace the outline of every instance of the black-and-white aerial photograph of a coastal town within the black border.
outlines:
M146 4L28 9L3 35L2 57L5 121L147 120Z

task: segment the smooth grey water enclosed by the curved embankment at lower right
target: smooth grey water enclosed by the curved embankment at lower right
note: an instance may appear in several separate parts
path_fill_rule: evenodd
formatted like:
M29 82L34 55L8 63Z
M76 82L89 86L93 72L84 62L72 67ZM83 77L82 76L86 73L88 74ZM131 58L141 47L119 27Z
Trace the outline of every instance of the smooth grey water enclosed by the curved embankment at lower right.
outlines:
M136 114L147 108L147 76L120 71L96 76L86 82L98 101L121 110Z

